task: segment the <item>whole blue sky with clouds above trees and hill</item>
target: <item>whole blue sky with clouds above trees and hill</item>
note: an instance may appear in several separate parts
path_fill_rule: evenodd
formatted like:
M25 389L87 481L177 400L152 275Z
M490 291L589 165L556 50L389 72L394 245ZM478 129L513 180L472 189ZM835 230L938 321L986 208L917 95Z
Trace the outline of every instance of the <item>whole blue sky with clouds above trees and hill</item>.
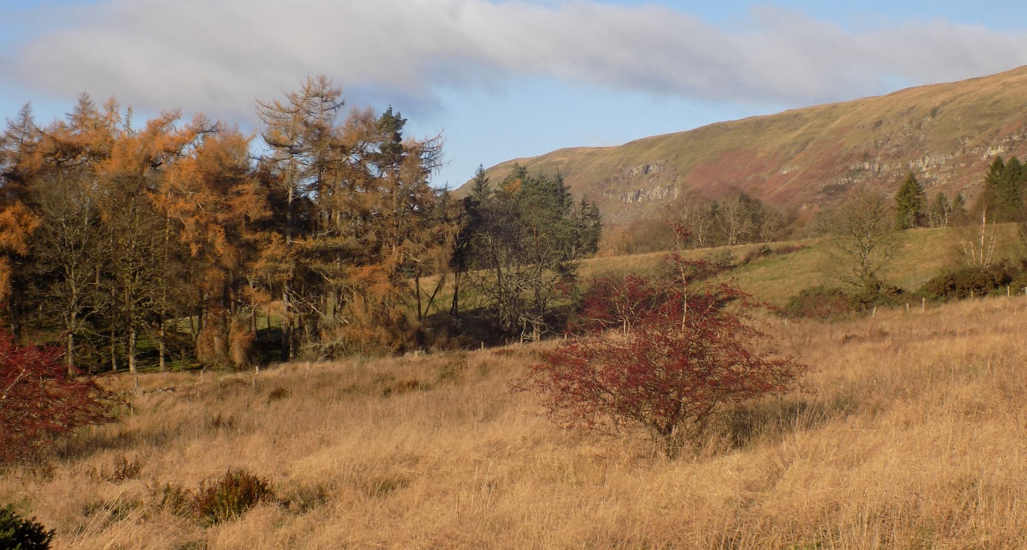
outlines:
M1027 65L1027 4L710 0L0 0L0 117L81 93L258 129L307 76L479 163L608 146Z

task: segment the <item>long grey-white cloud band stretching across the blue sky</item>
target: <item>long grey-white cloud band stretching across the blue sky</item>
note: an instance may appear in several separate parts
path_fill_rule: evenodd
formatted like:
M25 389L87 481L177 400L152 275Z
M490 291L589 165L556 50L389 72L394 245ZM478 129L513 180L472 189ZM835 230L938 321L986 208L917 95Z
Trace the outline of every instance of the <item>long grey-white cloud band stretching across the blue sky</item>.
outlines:
M434 86L542 76L801 105L1027 64L1023 34L945 21L846 31L779 8L754 11L745 29L586 1L107 0L58 17L8 53L8 80L233 117L318 73L428 101Z

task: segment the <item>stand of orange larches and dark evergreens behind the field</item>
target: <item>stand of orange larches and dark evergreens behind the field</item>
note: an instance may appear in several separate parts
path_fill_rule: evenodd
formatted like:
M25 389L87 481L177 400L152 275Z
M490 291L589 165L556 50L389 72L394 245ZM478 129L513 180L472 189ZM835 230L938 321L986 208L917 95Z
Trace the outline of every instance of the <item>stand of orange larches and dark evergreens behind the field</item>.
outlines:
M4 324L69 366L131 371L402 352L470 309L506 336L544 332L597 247L595 206L523 169L456 199L429 186L441 136L343 107L308 78L258 103L258 141L179 112L137 125L86 95L46 125L26 106L0 138Z

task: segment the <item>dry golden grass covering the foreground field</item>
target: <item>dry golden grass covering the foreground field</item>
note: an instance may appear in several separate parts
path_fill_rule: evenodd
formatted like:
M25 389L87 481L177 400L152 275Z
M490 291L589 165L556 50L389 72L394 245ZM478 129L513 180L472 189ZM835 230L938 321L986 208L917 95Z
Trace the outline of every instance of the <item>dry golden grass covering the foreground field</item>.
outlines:
M509 388L541 349L507 347L142 376L134 415L0 503L74 549L1027 547L1027 298L772 323L805 389L675 462L537 416ZM94 473L122 455L139 478ZM228 468L290 506L206 528L153 502Z

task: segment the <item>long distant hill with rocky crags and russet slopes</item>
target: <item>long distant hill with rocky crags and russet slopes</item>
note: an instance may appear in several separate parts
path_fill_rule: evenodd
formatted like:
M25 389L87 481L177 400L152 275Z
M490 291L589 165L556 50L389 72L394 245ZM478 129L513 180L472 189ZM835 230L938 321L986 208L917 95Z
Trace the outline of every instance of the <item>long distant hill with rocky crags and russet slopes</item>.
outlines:
M559 149L514 162L556 170L609 223L651 215L693 191L736 191L810 208L845 191L898 188L912 171L927 189L971 197L995 155L1027 154L1027 66L982 78L795 109L654 136L615 147ZM457 192L465 190L461 187Z

